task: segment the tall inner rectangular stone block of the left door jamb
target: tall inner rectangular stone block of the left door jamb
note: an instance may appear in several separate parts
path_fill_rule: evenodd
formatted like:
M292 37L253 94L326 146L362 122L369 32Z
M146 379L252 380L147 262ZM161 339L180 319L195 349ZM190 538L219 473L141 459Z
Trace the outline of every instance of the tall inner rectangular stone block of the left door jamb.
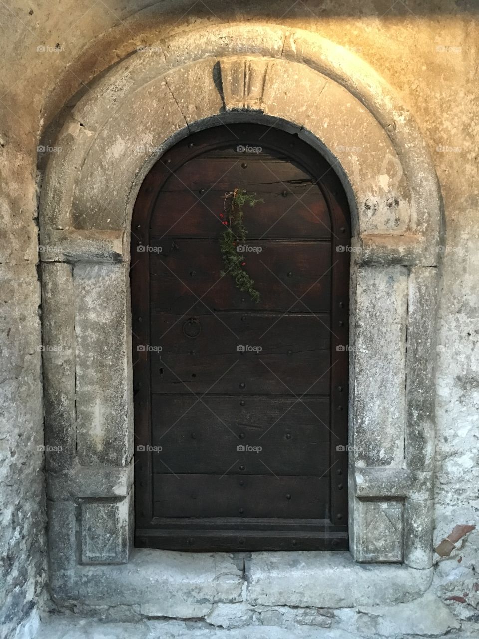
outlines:
M133 454L128 265L76 265L74 286L79 463L124 466Z

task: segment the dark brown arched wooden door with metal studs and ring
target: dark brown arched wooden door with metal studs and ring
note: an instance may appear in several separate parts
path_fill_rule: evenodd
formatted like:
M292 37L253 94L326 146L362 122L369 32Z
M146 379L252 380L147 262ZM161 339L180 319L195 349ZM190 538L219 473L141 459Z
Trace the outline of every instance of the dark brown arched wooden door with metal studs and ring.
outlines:
M221 274L235 189L262 199L239 251L259 302ZM209 128L146 176L131 262L137 546L347 548L350 237L333 169L275 128Z

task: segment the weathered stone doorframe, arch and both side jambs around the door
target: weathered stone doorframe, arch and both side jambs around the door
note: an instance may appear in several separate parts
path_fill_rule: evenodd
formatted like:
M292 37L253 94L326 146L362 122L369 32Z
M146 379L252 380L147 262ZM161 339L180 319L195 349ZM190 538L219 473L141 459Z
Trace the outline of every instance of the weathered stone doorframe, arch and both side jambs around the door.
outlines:
M61 152L52 153L40 200L57 594L79 596L80 582L111 576L107 564L128 562L132 551L135 197L172 144L244 120L296 132L330 161L347 192L351 554L401 563L392 568L409 575L430 569L440 205L409 112L351 52L306 31L251 22L140 47L90 88L59 133ZM135 561L145 552L135 550Z

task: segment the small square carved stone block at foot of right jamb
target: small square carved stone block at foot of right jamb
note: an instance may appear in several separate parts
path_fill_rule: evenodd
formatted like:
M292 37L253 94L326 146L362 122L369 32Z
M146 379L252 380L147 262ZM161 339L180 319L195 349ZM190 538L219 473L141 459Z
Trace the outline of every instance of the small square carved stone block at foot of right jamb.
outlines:
M399 500L356 501L354 557L357 561L402 561L402 508Z

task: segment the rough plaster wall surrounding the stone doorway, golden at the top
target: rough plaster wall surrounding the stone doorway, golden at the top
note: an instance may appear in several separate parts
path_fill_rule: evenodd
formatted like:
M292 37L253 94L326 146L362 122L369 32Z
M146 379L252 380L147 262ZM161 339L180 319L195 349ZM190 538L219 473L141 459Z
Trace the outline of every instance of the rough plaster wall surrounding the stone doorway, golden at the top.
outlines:
M0 584L6 587L0 589L0 633L5 636L13 636L22 620L25 632L33 633L36 618L31 616L29 625L28 619L45 580L42 452L37 450L43 435L36 147L54 116L67 102L75 102L77 91L88 91L93 77L139 45L155 42L158 34L163 38L254 19L308 29L367 61L409 105L432 154L445 208L437 332L435 543L456 523L477 520L478 26L471 20L477 17L475 3L439 0L431 6L414 0L391 8L386 0L358 8L352 1L319 7L308 1L291 6L290 1L245 5L210 0L194 9L192 4L144 0L86 7L66 0L52 8L46 0L15 0L0 8L0 303L1 341L6 347L0 426ZM57 43L62 50L54 52ZM51 50L37 52L39 45ZM113 104L120 98L112 87ZM478 537L478 532L470 534L435 569L432 591L459 619L478 619ZM465 601L447 599L450 596ZM122 631L134 636L129 626ZM114 630L107 632L116 636ZM344 630L337 632L347 636ZM71 627L68 633L57 636L74 636ZM53 630L49 636L56 636ZM248 630L247 636L254 633Z

